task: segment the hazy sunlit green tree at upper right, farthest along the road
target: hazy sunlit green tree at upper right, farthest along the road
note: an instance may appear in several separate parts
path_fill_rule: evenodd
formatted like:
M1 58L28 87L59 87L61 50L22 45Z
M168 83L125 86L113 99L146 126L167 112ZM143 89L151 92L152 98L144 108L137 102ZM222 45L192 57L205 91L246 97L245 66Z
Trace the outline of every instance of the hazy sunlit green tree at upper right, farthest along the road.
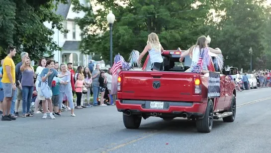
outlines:
M266 0L231 0L222 9L226 13L220 16L221 21L210 26L210 45L222 50L226 65L249 69L249 48L252 47L253 68L263 66L259 63L266 57L263 55L266 51L264 29L269 12L265 3Z

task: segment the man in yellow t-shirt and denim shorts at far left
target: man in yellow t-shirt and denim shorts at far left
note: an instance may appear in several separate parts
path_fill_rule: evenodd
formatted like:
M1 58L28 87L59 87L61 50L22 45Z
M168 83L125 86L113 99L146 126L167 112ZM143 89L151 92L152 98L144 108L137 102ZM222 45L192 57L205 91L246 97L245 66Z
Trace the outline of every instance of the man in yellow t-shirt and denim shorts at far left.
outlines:
M12 57L16 55L16 47L8 46L6 49L7 56L3 62L2 87L4 91L4 100L2 104L3 115L2 121L16 120L10 115L11 99L16 90L15 85L15 64ZM13 113L13 112L12 112Z

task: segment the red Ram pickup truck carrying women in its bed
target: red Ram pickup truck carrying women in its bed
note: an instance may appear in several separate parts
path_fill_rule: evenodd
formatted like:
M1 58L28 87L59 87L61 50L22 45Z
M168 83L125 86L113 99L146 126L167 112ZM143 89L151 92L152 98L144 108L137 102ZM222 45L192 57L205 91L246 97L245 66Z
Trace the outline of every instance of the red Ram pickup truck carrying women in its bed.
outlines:
M119 73L116 107L123 113L126 128L139 128L142 118L160 117L170 121L181 117L195 120L198 132L209 133L214 119L235 120L236 89L229 75L235 75L237 68L228 72L218 70L220 97L208 98L208 73L184 72L189 68L191 58L186 56L180 62L180 55L179 50L164 51L164 71L151 71L148 56L143 71ZM214 64L208 69L214 71Z

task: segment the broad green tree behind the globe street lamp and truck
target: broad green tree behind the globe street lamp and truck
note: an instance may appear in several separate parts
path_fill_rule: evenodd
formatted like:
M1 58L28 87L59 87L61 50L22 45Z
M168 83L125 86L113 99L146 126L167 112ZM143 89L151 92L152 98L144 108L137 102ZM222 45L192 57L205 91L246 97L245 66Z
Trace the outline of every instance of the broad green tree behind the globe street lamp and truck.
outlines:
M82 41L82 49L99 53L109 59L109 32L106 21L108 10L116 16L113 25L113 54L118 52L127 59L133 50L144 49L148 34L156 32L165 49L187 49L198 36L207 34L204 28L211 3L215 0L97 0L104 10L97 10L95 25L102 35L89 33ZM91 14L92 15L92 14ZM100 17L97 17L100 16ZM93 16L89 16L93 17ZM81 24L78 20L78 24ZM92 23L92 22L91 22ZM81 27L90 25L83 23Z

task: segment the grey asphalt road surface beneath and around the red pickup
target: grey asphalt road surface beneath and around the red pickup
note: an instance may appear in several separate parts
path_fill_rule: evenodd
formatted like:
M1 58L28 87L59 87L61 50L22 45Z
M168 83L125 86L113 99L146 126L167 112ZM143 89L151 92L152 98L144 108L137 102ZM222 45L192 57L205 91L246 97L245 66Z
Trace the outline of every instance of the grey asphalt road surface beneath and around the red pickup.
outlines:
M0 121L0 153L269 153L271 88L238 92L237 106L235 122L216 120L209 134L181 118L151 117L125 129L115 106Z

